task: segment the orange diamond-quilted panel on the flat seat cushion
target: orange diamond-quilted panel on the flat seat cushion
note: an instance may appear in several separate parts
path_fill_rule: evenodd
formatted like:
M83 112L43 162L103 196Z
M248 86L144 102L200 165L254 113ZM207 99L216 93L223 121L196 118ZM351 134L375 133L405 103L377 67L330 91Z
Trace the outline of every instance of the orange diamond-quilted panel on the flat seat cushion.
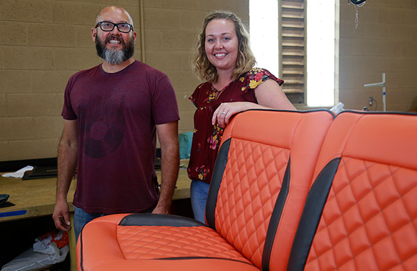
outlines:
M124 258L213 257L247 261L208 227L118 226L117 241Z

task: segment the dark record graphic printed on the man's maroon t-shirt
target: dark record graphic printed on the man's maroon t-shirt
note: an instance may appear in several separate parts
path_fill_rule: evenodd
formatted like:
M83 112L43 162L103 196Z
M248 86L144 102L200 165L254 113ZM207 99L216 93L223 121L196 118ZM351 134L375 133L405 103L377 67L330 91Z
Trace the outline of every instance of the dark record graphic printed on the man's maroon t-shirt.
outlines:
M84 153L92 158L111 154L124 136L124 95L94 95L92 104L85 108Z

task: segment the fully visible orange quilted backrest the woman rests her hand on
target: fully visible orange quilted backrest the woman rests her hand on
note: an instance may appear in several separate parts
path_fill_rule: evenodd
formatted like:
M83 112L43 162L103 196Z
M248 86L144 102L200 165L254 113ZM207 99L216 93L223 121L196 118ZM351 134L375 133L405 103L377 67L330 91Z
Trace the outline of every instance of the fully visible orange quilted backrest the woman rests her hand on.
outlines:
M333 118L329 110L248 110L224 130L206 222L256 267L286 264Z

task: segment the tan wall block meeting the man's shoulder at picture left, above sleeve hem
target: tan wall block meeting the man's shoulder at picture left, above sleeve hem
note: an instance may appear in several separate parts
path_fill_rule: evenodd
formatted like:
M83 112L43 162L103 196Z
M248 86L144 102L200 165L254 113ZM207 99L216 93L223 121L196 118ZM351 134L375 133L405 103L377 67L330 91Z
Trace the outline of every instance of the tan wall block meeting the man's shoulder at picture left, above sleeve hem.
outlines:
M68 79L74 71L32 71L31 92L63 94Z

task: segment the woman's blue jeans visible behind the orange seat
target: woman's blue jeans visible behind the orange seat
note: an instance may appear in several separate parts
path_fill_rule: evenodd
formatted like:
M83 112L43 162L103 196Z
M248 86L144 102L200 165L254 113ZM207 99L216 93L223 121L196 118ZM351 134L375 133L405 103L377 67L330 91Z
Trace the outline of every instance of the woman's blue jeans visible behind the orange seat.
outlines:
M194 218L204 224L206 224L205 213L209 187L210 185L208 183L204 183L204 181L191 181L190 195Z

